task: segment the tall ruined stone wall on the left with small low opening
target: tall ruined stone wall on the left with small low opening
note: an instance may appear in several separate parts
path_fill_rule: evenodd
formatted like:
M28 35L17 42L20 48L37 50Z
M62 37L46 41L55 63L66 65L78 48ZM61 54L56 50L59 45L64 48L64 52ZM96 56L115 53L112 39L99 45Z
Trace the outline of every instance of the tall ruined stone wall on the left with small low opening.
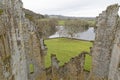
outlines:
M2 0L1 5L0 80L46 80L43 39L25 18L21 0Z

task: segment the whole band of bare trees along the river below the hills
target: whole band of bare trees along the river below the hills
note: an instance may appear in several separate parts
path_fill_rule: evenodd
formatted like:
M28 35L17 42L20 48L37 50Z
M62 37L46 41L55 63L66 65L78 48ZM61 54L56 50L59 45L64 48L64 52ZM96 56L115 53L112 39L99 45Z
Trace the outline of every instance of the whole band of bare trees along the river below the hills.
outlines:
M62 22L62 25L59 23ZM50 35L53 35L57 29L56 26L64 26L64 30L70 37L73 37L74 34L83 32L89 27L94 27L94 21L80 20L80 19L68 19L68 20L59 20L52 18L40 19L37 21L38 30L44 38L48 38Z

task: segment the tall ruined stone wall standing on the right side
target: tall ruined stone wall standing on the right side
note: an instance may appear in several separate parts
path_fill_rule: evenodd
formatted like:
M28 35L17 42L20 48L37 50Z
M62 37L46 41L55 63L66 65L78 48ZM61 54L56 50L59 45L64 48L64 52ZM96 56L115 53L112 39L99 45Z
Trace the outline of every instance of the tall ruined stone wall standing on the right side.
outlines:
M107 10L97 17L90 80L120 79L118 71L120 62L118 10L119 5L114 4L108 6Z

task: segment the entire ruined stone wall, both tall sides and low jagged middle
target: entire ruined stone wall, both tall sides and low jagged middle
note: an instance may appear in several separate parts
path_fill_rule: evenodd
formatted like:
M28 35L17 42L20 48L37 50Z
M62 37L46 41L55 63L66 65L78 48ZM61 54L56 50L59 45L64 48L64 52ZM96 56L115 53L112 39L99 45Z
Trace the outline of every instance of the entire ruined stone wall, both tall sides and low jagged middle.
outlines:
M52 65L45 69L47 49L36 25L26 19L23 3L0 0L0 80L119 80L119 7L111 5L97 17L89 75L84 70L86 52L63 66L59 66L56 56L52 55Z

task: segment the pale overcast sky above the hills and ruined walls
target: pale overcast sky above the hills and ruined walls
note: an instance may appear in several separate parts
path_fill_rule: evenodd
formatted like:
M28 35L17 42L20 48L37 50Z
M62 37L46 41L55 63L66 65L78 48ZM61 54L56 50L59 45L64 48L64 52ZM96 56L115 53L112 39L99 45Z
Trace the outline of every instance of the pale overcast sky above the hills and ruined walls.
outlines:
M76 17L96 17L108 5L120 0L22 0L24 7L36 13ZM120 13L120 12L119 12Z

